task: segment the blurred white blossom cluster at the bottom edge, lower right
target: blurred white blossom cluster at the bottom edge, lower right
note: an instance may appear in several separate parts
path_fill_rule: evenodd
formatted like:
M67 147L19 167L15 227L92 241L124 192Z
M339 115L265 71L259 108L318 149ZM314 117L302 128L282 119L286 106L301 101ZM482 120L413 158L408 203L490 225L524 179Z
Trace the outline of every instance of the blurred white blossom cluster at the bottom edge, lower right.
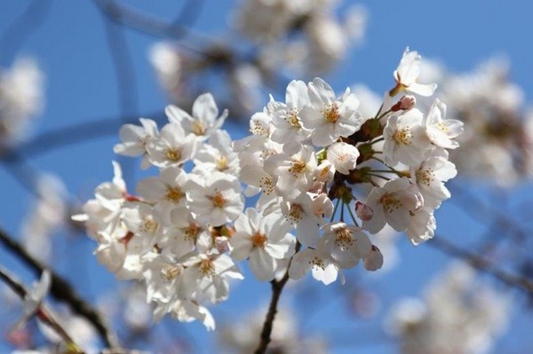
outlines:
M387 329L399 337L402 353L487 353L505 330L511 300L476 279L467 264L454 263L423 299L397 303Z

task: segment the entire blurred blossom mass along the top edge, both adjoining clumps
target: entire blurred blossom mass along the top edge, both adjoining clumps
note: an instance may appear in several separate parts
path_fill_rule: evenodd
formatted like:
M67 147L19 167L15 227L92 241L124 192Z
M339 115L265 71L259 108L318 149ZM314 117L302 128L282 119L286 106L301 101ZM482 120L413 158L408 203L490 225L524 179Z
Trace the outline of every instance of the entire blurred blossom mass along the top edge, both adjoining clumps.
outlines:
M262 104L267 87L284 75L313 77L346 59L365 35L367 11L337 0L247 0L230 15L239 40L211 41L190 29L194 51L183 43L155 43L149 52L157 81L169 101L189 106L210 90L246 117ZM235 45L238 43L238 45ZM198 55L203 52L205 55ZM212 76L224 89L212 85Z

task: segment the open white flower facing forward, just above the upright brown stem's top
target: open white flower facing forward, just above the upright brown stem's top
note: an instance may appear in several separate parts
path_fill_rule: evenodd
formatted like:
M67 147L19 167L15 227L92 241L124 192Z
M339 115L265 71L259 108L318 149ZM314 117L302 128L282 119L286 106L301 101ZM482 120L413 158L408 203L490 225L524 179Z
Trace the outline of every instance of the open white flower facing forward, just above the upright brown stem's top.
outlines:
M235 220L235 234L230 240L230 256L237 261L249 258L251 271L260 281L274 279L277 260L294 253L295 239L289 233L282 215L261 216L254 208L247 208Z

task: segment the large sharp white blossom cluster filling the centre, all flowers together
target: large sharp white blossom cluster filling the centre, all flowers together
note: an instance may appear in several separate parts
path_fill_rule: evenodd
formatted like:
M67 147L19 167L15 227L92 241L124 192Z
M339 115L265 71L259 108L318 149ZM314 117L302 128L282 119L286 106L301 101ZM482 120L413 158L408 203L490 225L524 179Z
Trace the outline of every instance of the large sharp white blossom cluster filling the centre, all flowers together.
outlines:
M378 270L383 256L369 234L389 224L413 244L432 238L434 209L449 198L444 182L456 175L448 149L462 123L438 99L424 114L414 96L396 97L433 95L435 85L418 83L419 64L416 51L404 52L394 89L370 117L349 89L337 95L315 78L290 82L284 101L271 98L251 116L251 135L234 142L209 93L191 114L167 106L161 130L150 119L126 124L115 153L142 156L158 176L132 193L114 162L113 181L76 219L98 242L99 262L144 280L156 318L209 329L204 304L226 300L230 280L243 279L235 262L248 260L260 281L311 271L326 285L360 261Z

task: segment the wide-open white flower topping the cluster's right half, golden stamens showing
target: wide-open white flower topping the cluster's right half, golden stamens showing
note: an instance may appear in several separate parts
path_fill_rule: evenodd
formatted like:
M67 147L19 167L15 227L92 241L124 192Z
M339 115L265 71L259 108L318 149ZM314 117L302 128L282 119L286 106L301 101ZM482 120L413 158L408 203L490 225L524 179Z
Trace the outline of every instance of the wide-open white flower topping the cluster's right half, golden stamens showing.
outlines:
M359 101L349 89L343 97L336 98L330 85L318 77L309 83L308 89L312 106L304 108L301 118L306 128L313 130L314 146L329 146L361 128L364 120L356 111Z

